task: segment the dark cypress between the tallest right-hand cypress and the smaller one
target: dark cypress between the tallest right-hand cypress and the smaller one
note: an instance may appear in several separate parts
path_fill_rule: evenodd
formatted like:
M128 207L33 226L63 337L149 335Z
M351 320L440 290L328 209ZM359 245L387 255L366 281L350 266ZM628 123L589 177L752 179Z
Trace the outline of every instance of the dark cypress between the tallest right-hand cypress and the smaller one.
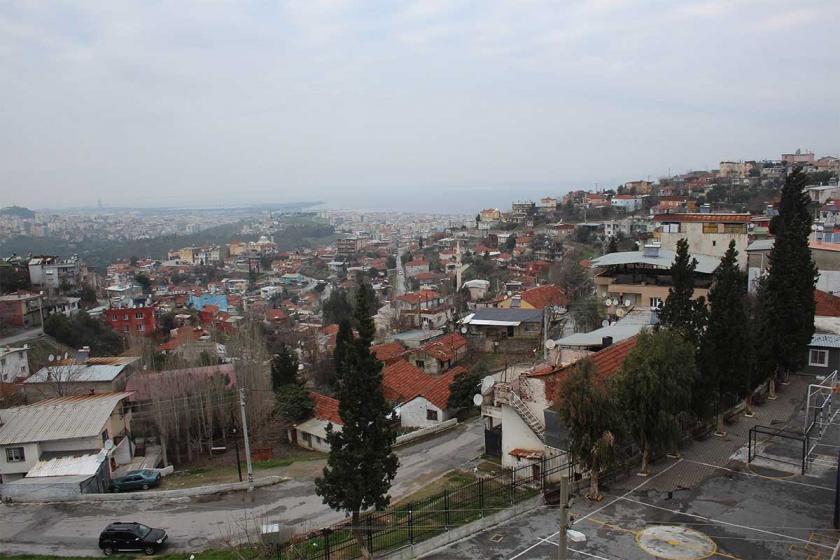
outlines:
M723 433L724 394L741 393L750 382L752 359L746 298L747 279L738 268L733 239L709 290L709 320L697 360L701 375L693 391L694 409L701 417L708 417L710 412L717 414L718 433Z

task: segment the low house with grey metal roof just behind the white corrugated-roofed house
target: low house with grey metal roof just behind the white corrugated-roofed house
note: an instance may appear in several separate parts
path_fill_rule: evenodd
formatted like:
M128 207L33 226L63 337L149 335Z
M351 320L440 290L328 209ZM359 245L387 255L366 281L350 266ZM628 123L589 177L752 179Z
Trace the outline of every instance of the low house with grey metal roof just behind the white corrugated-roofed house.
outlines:
M27 401L119 392L140 365L138 356L90 358L89 351L83 348L76 358L55 360L29 376L21 384Z

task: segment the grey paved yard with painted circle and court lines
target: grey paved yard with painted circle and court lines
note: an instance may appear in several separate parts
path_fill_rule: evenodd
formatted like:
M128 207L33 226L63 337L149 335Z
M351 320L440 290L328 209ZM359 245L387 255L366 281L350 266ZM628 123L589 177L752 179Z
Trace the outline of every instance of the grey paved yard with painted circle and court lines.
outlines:
M647 477L631 473L602 489L600 502L576 498L573 529L586 542L570 542L569 558L831 559L840 538L832 528L840 429L830 427L804 475L792 463L774 461L773 445L761 460L746 461L752 423L796 422L799 399L792 392L786 398L755 422L739 421L725 439L695 443ZM786 421L771 418L785 409ZM543 506L426 558L556 558L558 523L558 510Z

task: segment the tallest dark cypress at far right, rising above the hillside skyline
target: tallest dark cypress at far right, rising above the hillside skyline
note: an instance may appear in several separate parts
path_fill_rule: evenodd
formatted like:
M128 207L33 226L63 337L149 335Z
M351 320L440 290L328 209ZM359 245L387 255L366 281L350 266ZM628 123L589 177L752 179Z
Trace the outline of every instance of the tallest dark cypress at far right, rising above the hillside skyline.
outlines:
M810 198L807 176L796 168L785 179L776 223L776 240L768 256L767 275L758 290L759 373L771 380L805 364L814 335L814 287L817 267L811 258Z

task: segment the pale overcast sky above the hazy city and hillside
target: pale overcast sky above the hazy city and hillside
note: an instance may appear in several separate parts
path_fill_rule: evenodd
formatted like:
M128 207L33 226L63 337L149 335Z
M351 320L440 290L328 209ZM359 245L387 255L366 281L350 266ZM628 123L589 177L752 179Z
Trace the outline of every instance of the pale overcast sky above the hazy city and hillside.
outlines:
M470 211L840 155L840 2L0 3L0 206Z

